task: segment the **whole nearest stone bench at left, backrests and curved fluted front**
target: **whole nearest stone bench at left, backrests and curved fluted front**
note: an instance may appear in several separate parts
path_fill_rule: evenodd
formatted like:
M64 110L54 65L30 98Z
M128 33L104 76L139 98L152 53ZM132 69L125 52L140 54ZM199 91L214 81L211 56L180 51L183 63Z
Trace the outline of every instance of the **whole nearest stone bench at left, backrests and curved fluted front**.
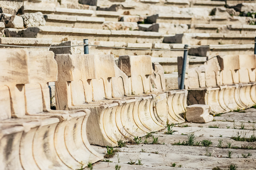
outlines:
M5 50L1 50L1 53L4 52ZM17 58L17 56L21 58L23 57L23 59ZM19 137L15 137L20 148L15 148L11 151L11 154L16 155L19 155L19 152L18 154L15 152L20 151L20 157L16 159L14 158L15 155L13 155L13 159L9 163L11 166L7 165L7 167L9 166L10 169L20 169L18 166L19 161L21 161L23 168L26 169L69 169L69 167L77 169L82 166L79 162L96 162L99 159L102 159L98 153L90 148L86 133L81 133L82 128L76 128L74 131L74 127L82 127L83 124L85 129L86 119L84 123L84 118L85 116L89 116L90 111L54 112L49 110L47 106L50 104L47 83L49 81L57 80L57 63L54 59L53 52L48 52L46 54L30 52L28 54L24 50L12 50L12 52L5 55L5 58L12 58L12 61L15 62L15 65L9 64L9 70L12 70L13 67L17 70L17 68L19 68L17 66L21 65L22 67L19 68L21 73L22 69L26 70L27 73L23 73L23 75L19 74L19 78L27 79L31 82L22 82L22 79L19 80L17 78L16 80L7 79L6 81L10 81L9 83L3 82L9 87L8 89L3 90L9 91L10 96L8 97L7 94L5 95L7 95L6 97L12 104L9 105L13 108L12 117L20 117L22 119L6 119L0 124L13 123L15 125L22 125L25 130L25 132L20 133ZM7 63L10 62L7 60ZM2 72L2 75L6 77L12 72L13 71L9 73ZM13 74L14 78L15 76L16 74ZM1 91L1 93L2 92L3 91ZM43 112L43 110L47 111L47 113ZM10 113L10 110L8 111L7 108L6 112ZM35 123L34 121L39 122ZM29 124L31 123L31 125L27 125L27 122L29 122ZM70 129L65 128L66 125L68 125ZM64 137L67 135L65 132L71 136ZM1 133L1 135L2 134L3 133ZM0 148L3 148L5 143L0 143ZM55 147L56 143L58 147ZM69 143L69 146L65 146L65 143ZM0 160L2 160L2 157ZM5 166L5 164L3 166ZM7 167L3 169L6 169Z

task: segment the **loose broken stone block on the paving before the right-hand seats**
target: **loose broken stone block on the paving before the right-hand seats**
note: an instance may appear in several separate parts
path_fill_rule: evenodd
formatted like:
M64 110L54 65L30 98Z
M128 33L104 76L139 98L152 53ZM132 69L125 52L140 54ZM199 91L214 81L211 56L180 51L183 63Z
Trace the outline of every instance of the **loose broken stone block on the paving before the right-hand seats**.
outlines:
M209 105L190 105L187 106L186 119L192 123L208 123L213 121L210 111Z

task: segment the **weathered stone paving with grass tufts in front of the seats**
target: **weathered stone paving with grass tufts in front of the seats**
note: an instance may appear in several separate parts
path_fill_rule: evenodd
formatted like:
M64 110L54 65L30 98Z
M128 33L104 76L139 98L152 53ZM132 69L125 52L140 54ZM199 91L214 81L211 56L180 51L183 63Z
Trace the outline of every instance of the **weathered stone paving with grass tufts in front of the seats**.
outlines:
M240 135L241 137L250 137L256 133L256 109L245 110L245 113L230 112L214 117L215 121L207 124L183 123L176 125L176 130L172 135L164 134L167 129L152 133L154 137L158 137L161 144L138 144L127 145L120 148L110 161L113 162L97 162L93 165L93 169L114 170L116 164L121 166L120 170L125 169L229 169L230 164L237 165L237 170L256 169L256 150L255 149L234 149L237 146L256 147L256 142L235 141L231 137ZM209 128L218 127L218 128ZM244 127L243 127L244 126ZM242 129L241 129L242 128ZM194 134L195 142L202 140L211 140L212 145L204 146L184 146L173 145L175 142L186 141L188 135ZM144 142L145 137L142 138ZM148 138L152 141L152 137ZM223 141L222 146L218 147L219 140ZM227 148L227 142L231 142L231 148ZM93 146L99 153L106 152L105 147ZM211 156L206 156L206 148ZM142 149L144 152L142 152ZM231 158L228 158L228 151L232 151ZM152 152L158 152L152 153ZM243 158L242 154L251 153L249 158ZM118 161L119 158L119 161ZM129 165L132 161L141 160L143 165ZM118 163L119 162L119 163ZM175 163L176 166L172 167ZM179 168L178 166L182 167Z

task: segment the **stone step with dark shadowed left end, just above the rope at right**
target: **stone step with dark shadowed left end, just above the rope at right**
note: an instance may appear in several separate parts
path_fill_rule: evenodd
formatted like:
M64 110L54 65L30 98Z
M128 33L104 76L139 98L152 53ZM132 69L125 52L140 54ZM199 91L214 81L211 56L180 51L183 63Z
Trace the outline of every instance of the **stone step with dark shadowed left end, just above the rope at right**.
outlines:
M254 39L254 34L184 33L175 36L165 35L163 42L189 45L249 44L253 43Z

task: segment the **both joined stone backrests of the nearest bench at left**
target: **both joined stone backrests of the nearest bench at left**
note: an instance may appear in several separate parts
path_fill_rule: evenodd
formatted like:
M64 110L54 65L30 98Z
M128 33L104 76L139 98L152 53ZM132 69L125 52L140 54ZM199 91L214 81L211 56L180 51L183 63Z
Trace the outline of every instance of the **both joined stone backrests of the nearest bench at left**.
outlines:
M25 50L8 50L2 53L4 60L1 65L8 66L6 68L8 71L1 73L1 79L8 77L8 80L1 81L1 85L6 85L1 86L3 93L1 101L11 103L11 117L21 118L50 109L47 83L57 81L58 73L54 53L51 51L28 53ZM1 70L5 67L1 67ZM9 105L5 107L7 106ZM11 117L8 108L4 119Z

